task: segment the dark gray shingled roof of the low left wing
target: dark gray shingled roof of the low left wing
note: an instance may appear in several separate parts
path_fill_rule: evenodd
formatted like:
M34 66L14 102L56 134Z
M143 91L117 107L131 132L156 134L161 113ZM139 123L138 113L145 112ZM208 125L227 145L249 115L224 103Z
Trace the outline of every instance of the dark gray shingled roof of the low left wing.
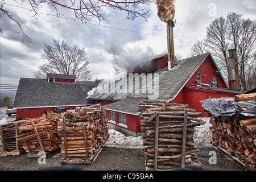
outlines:
M14 107L68 106L91 104L87 93L97 87L96 81L75 84L48 82L47 79L20 78Z

